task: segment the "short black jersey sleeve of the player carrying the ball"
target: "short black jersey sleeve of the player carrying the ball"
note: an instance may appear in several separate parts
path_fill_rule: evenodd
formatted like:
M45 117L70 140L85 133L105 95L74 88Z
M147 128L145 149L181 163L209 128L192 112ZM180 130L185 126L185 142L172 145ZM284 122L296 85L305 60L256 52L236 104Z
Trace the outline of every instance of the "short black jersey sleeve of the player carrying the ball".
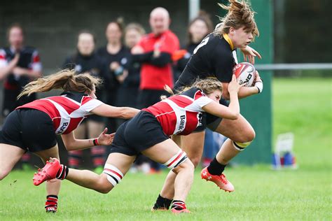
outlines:
M229 83L233 75L233 54L224 50L218 50L217 47L212 52L212 62L216 78L223 83Z

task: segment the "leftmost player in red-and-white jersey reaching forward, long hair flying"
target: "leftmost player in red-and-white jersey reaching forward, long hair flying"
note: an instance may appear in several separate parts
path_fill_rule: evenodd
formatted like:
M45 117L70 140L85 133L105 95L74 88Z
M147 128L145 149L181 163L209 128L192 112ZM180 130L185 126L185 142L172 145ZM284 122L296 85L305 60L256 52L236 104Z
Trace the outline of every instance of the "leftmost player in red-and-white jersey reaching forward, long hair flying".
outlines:
M97 138L81 140L74 136L74 129L88 115L128 119L139 112L135 108L113 107L97 100L95 87L100 83L99 78L88 73L76 74L69 70L29 83L19 97L59 88L64 92L60 96L32 101L8 115L0 131L0 180L10 173L27 151L41 157L43 162L50 157L59 159L56 134L62 134L67 150L111 144L114 135L106 134L106 128ZM55 213L60 182L48 182L46 186L46 212Z

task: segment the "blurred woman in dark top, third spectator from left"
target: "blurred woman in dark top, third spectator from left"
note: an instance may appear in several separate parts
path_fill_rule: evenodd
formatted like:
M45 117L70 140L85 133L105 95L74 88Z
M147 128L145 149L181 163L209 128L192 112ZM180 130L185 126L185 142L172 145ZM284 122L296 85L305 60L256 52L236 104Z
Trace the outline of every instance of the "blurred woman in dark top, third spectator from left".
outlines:
M106 87L106 104L115 106L118 88L120 87L120 83L124 80L123 74L125 70L120 63L121 60L130 52L122 43L123 20L119 18L116 21L109 22L106 27L105 34L107 44L104 47L99 48L97 53L100 57L105 59L112 82L112 84ZM125 73L125 75L126 74L127 73ZM117 126L116 119L107 119L107 127L109 128L109 132L115 132L118 128Z

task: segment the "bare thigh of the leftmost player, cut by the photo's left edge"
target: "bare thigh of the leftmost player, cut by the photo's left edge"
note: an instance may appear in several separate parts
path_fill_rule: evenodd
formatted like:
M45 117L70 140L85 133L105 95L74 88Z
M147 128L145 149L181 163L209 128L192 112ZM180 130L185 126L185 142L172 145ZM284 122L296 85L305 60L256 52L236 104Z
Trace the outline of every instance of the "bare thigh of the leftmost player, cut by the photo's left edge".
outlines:
M0 143L0 180L11 172L24 153L25 150L15 145Z

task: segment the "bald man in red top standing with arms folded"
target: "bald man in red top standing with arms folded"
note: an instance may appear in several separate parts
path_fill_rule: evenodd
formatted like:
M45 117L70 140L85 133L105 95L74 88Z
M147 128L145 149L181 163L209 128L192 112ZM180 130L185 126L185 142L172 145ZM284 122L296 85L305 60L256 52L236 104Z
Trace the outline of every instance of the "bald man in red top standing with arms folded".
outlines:
M170 15L165 8L154 8L149 22L152 32L132 48L133 61L141 62L139 109L160 101L160 96L167 94L165 85L173 87L172 54L179 50L179 39L169 29ZM151 167L153 173L160 171L155 162Z

